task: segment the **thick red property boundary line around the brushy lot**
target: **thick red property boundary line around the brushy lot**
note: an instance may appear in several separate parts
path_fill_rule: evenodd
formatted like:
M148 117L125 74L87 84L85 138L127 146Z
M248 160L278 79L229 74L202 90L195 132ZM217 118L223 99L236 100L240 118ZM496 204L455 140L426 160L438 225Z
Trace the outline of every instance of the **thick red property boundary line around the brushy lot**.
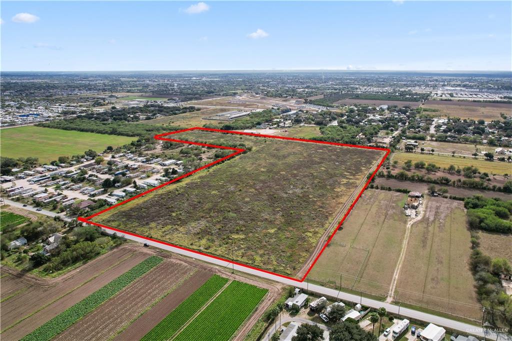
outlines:
M183 247L183 246L179 246L179 245L170 244L170 243L167 243L167 242L164 242L164 241L160 241L160 240L156 240L156 239L153 239L153 238L144 237L144 236L141 236L141 235L137 235L136 233L133 233L133 232L124 231L124 230L121 230L121 229L117 229L117 228L114 228L114 227L102 225L102 224L99 224L99 223L91 221L92 218L97 217L97 216L103 214L106 211L109 211L109 210L111 210L113 208L121 206L121 205L123 205L123 204L125 204L127 202L130 202L130 201L135 200L135 199L137 199L139 197L142 197L143 195L146 195L146 194L148 194L148 193L150 193L150 192L152 192L154 190L157 190L159 188L162 188L164 186L172 184L173 182L177 182L177 181L179 181L181 179L184 179L184 178L186 178L186 177L188 177L188 176L190 176L190 175L192 175L194 173L202 171L205 168L211 167L212 165L215 165L217 163L220 163L222 161L230 159L233 156L236 156L238 154L244 153L246 151L246 150L244 150L242 148L233 148L233 147L227 147L227 146L223 146L223 145L206 144L206 143L200 143L200 142L191 142L191 141L183 141L183 140L166 138L166 136L169 136L169 135L179 134L179 133L188 132L188 131L195 131L195 130L206 131L206 132L216 132L216 133L247 135L247 136L255 136L255 137L266 137L266 138L289 140L289 141L321 143L321 144L338 145L338 146L344 146L344 147L354 147L354 148L361 148L361 149L370 149L370 150L386 152L386 154L384 155L384 157L382 157L382 159L380 160L379 164L375 168L375 171L372 173L370 178L368 178L368 181L365 183L364 187L361 189L361 191L359 192L357 197L354 199L354 201L350 205L349 209L347 210L347 212L343 216L342 220L339 222L338 226L334 229L334 231L332 232L331 236L329 237L329 239L325 243L324 247L320 250L320 252L316 256L316 258L314 259L313 263L308 268L308 271L306 271L306 273L304 274L304 276L300 280L299 279L295 279L295 278L290 277L290 276L286 276L286 275L280 274L280 273L276 273L276 272L268 271L268 270L265 270L265 269L253 267L253 266L250 266L250 265L247 265L247 264L243 264L243 263L238 263L238 262L230 261L230 260L227 260L227 259L224 259L224 258L221 258L221 257L217 257L217 256L212 255L212 254L208 254L208 253L204 253L204 252L201 252L201 251L189 249L189 248L186 248L186 247ZM178 143L185 143L185 144L195 144L195 145L200 145L200 146L204 146L204 147L212 147L212 148L220 148L220 149L225 149L225 150L231 150L231 151L234 151L234 153L231 153L231 154L229 154L229 155L227 155L227 156L225 156L225 157L223 157L221 159L218 159L218 160L216 160L214 162L208 163L208 164L206 164L206 165L204 165L204 166L202 166L200 168L197 168L194 171L191 171L191 172L189 172L187 174L183 174L182 176L179 176L179 177L177 177L177 178L175 178L173 180L167 181L167 182L165 182L165 183L163 183L163 184L161 184L161 185L159 185L157 187L154 187L154 188L152 188L150 190L146 190L145 192L143 192L141 194L138 194L135 197L132 197L132 198L127 199L127 200L124 200L124 201L122 201L120 203L117 203L117 204L115 204L115 205L113 205L113 206L111 206L109 208L103 209L103 210L101 210L101 211L99 211L99 212L97 212L97 213L95 213L95 214L93 214L93 215L91 215L89 217L86 217L86 218L78 217L78 220L81 221L81 222L84 222L84 223L87 223L87 224L96 225L96 226L99 226L99 227L102 227L104 229L108 229L108 230L111 230L111 231L124 233L126 235L142 238L142 239L145 239L145 240L148 240L148 241L152 241L152 242L156 242L156 243L159 243L159 244L162 244L162 245L172 246L172 247L177 248L177 249L194 252L194 253L197 253L197 254L204 255L206 257L210 257L210 258L216 259L216 260L228 262L228 263L231 263L231 264L236 264L236 265L243 266L243 267L246 267L246 268L249 268L249 269L253 269L253 270L262 271L262 272L265 272L265 273L269 273L269 274L272 274L272 275L280 276L282 278L286 278L288 280L292 280L292 281L299 282L299 283L304 282L304 280L306 279L307 275L309 274L309 272L311 271L311 269L315 265L315 263L318 260L318 258L320 258L320 256L324 252L324 250L327 247L327 245L329 245L329 243L333 239L333 237L336 234L336 232L338 231L338 229L343 225L343 222L348 217L350 211L352 210L354 205L357 203L357 201L361 197L362 193L368 187L368 185L372 181L372 179L375 176L375 174L377 174L377 171L379 170L380 166L382 166L382 163L384 163L384 161L386 160L388 155L391 153L391 150L389 150L388 148L379 148L379 147L370 147L370 146L365 146L365 145L335 143L335 142L316 141L316 140L307 140L307 139L297 139L297 138L285 137L285 136L272 136L272 135L263 135L263 134L243 133L243 132L236 132L236 131L227 131L227 130L220 130L220 129L203 128L203 127L192 127L192 128L188 128L188 129L178 130L178 131L175 131L175 132L159 134L159 135L155 135L154 138L157 139L157 140L162 140L162 141L178 142Z

